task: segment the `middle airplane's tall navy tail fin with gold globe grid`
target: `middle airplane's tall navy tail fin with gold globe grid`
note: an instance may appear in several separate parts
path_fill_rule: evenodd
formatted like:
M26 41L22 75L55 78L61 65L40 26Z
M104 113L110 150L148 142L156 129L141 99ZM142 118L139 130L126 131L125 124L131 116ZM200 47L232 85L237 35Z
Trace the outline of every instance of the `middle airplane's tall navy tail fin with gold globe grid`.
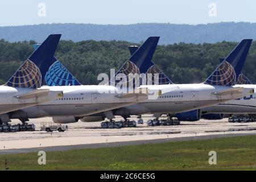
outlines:
M152 65L151 60L154 55L158 41L159 36L149 37L142 44L142 46L139 47L137 51L135 51L133 55L130 56L129 60L127 60L126 63L123 64L122 67L115 73L115 77L111 78L110 80L110 85L117 85L122 80L122 77L124 75L127 79L129 77L129 74L131 73L138 75L140 75L141 73L146 73L147 69L145 68L150 68ZM119 74L121 74L122 76L120 76ZM128 79L126 81L126 84L130 82ZM135 80L135 83L133 85L141 85L140 80Z

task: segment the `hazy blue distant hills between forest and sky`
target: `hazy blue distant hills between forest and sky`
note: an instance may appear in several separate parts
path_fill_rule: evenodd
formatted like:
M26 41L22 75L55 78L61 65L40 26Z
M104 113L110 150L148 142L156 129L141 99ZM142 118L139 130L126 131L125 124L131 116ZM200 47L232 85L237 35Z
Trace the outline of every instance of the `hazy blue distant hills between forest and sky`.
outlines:
M256 39L256 23L224 22L208 24L76 24L53 23L28 26L0 27L0 39L9 42L35 40L42 42L49 34L63 34L61 39L80 42L82 40L124 40L141 43L148 36L160 36L159 44L173 43L217 43L239 42L241 39Z

